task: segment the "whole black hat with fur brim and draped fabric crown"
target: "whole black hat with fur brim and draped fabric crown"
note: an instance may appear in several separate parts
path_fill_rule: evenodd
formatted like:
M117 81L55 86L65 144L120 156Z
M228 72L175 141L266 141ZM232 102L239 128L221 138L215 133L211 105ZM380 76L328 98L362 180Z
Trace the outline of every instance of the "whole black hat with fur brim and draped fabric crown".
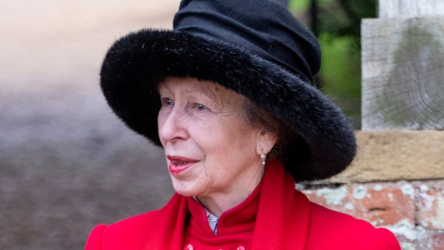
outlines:
M244 95L299 135L305 147L294 140L284 157L295 181L328 178L350 165L355 133L311 84L321 64L318 42L280 1L183 0L173 26L130 33L103 60L103 94L133 131L160 146L157 84L194 77Z

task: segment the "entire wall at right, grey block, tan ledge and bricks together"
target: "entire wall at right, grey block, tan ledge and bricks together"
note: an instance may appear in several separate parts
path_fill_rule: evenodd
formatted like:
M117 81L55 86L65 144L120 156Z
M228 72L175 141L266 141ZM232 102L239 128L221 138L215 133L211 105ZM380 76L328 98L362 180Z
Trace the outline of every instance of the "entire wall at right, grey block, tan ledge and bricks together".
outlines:
M379 1L379 19L364 19L361 34L357 157L327 183L298 188L389 228L402 249L443 249L444 1Z

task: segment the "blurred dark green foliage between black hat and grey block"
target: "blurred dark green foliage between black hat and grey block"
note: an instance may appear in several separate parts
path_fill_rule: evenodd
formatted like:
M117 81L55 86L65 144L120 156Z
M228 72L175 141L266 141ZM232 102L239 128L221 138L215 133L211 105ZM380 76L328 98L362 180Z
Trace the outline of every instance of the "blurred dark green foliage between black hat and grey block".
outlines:
M289 0L289 9L311 28L313 0ZM319 85L355 128L361 122L361 19L376 17L376 0L316 0L318 39L323 53Z

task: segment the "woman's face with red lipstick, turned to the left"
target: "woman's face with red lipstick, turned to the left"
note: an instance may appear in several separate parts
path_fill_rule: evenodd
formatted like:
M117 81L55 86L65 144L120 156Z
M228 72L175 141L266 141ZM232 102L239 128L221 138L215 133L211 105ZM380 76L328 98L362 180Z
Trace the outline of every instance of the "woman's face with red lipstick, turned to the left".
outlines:
M176 192L225 196L259 183L262 131L246 123L241 95L195 78L167 78L159 92L159 137Z

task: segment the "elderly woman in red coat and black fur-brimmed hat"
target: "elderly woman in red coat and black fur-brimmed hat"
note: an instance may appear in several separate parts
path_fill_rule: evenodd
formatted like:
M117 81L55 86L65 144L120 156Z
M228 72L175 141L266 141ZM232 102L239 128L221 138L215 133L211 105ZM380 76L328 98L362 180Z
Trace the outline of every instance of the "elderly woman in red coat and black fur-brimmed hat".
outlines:
M86 249L400 249L390 231L294 188L355 156L352 128L311 85L320 60L316 38L277 0L183 0L173 31L115 42L103 93L163 147L176 194L96 226Z

